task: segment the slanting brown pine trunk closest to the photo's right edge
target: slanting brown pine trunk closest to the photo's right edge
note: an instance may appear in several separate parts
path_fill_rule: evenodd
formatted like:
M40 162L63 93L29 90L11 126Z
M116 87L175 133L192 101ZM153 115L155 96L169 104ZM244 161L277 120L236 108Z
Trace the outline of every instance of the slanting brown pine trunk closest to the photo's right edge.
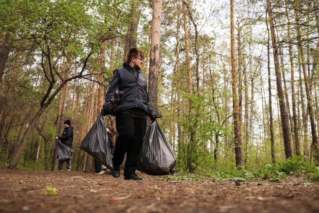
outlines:
M302 46L302 38L301 38L301 29L300 29L300 23L299 23L299 12L298 12L298 5L297 2L294 2L294 9L295 9L295 18L296 18L296 27L297 27L297 39L299 42L299 50L300 50L300 57L301 57L301 64L302 64L302 70L303 75L305 79L305 86L306 86L306 96L307 96L307 107L309 110L309 117L310 117L310 125L311 125L311 136L312 136L312 147L315 150L314 157L319 162L319 147L318 147L318 138L317 138L317 132L316 132L316 124L315 124L315 112L313 109L313 100L312 100L312 94L311 94L311 88L310 88L310 82L308 79L308 73L307 73L307 67L305 62L305 54L304 49Z

